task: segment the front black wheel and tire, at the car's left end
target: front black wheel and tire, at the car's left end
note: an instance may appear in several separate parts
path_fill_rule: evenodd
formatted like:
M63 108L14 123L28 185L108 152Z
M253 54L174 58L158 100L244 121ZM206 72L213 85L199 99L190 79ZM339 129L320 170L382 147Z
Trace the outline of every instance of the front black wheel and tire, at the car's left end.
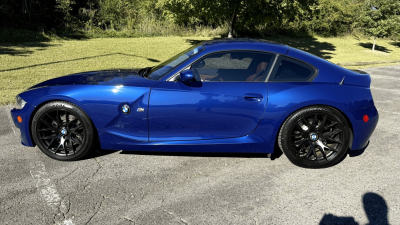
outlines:
M89 116L65 101L49 102L35 113L31 132L39 149L60 161L78 160L96 144L96 133Z

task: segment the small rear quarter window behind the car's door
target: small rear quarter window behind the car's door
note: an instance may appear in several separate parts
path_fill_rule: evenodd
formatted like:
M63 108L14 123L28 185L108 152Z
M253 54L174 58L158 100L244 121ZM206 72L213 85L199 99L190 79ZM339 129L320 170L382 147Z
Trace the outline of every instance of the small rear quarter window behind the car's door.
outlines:
M295 59L280 56L270 75L269 81L299 82L309 81L315 74L310 65Z

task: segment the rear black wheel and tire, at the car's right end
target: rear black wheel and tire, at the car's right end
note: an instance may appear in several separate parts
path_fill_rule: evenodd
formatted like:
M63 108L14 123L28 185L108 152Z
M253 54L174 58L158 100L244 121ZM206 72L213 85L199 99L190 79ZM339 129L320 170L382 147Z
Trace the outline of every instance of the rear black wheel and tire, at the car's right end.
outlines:
M304 168L326 168L338 163L349 147L349 126L343 115L327 106L310 106L283 123L278 144L286 157Z

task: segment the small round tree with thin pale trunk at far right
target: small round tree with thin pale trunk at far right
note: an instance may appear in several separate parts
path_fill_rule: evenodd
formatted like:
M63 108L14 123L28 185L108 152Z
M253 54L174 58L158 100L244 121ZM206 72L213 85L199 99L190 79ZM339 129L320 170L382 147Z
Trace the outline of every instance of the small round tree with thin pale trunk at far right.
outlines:
M366 35L376 38L387 37L396 29L400 13L399 0L367 0L360 17L360 25Z

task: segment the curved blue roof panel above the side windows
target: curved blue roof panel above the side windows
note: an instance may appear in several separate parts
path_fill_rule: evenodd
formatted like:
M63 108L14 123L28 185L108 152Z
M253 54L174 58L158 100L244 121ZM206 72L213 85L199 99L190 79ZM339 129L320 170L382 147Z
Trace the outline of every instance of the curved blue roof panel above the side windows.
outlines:
M273 41L250 39L250 38L226 38L203 42L204 49L207 51L223 50L258 50L285 55L289 46Z

